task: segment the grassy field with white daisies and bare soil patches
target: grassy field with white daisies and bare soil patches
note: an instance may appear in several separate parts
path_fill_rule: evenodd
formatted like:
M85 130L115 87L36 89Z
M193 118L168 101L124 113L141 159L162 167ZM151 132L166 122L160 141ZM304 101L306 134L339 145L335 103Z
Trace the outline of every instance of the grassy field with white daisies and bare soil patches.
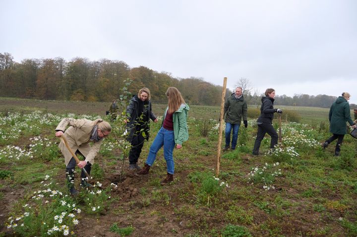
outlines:
M190 138L174 151L169 186L160 185L166 175L162 150L149 175L136 177L128 170L119 138L122 124L116 121L91 172L102 186L71 197L54 129L66 116L104 117L107 107L0 99L0 237L357 236L357 144L347 135L340 157L333 156L336 143L321 148L330 136L328 109L281 107L300 114L301 123L284 121L282 147L269 153L267 136L259 156L251 155L257 127L256 118L250 118L248 128L239 130L237 149L221 154L214 177L220 109L192 105ZM162 116L165 107L154 104L154 112ZM152 123L140 164L160 124ZM274 126L279 127L276 120Z

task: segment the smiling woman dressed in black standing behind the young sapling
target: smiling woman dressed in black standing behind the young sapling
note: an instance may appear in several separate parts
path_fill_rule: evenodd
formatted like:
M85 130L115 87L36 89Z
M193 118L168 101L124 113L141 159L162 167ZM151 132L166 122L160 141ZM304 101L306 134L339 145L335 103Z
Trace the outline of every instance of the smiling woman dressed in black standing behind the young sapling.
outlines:
M129 152L129 170L140 170L137 165L141 149L145 139L149 140L149 122L152 119L157 123L158 119L151 111L150 90L142 88L137 95L134 95L126 108L126 130L129 133L128 141L131 143ZM144 136L143 136L144 132Z

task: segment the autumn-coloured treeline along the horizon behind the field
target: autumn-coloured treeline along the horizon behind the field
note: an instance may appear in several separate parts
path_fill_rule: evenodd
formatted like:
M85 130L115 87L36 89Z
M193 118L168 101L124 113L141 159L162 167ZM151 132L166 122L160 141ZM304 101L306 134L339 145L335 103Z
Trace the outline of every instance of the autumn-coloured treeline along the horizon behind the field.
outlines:
M201 78L174 78L167 72L156 72L145 66L130 68L125 62L86 58L24 59L13 61L10 53L0 53L0 96L61 99L75 101L111 101L123 92L124 80L133 83L132 94L147 87L155 102L167 102L168 87L177 87L184 99L197 105L220 105L222 87ZM232 92L227 90L226 95ZM260 105L261 95L244 95L249 104ZM276 96L276 105L330 107L336 100L330 95ZM357 107L351 104L351 108Z

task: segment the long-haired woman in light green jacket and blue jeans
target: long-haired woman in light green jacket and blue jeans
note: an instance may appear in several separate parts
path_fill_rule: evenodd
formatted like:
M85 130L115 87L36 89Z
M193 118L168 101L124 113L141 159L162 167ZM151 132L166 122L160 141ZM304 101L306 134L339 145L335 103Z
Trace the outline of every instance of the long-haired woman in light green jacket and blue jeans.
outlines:
M138 175L148 174L150 167L156 159L157 152L164 146L167 176L161 182L161 185L174 181L175 165L173 151L175 144L176 148L180 149L182 143L188 140L187 112L189 107L183 100L179 90L175 87L169 87L166 91L166 96L168 96L169 102L164 114L162 127L150 146L149 155L144 167L137 173Z

